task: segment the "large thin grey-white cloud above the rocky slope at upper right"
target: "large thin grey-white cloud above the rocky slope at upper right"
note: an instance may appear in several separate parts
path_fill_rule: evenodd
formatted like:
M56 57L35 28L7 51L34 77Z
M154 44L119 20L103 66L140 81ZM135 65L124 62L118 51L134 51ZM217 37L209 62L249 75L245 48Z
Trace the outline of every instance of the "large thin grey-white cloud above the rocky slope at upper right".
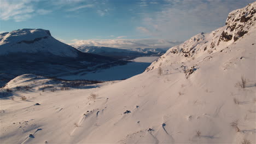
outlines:
M156 38L186 40L200 32L210 32L225 25L230 11L254 0L166 0L156 13L141 14L137 30Z

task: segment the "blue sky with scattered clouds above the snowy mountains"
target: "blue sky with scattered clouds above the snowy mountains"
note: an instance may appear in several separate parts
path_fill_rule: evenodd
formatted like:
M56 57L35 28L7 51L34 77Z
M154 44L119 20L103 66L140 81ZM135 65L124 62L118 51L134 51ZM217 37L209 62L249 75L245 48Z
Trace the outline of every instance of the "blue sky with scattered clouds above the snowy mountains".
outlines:
M254 0L0 0L0 31L43 28L65 43L112 46L118 40L121 45L124 40L143 43L152 39L168 46L224 26L231 10L251 2Z

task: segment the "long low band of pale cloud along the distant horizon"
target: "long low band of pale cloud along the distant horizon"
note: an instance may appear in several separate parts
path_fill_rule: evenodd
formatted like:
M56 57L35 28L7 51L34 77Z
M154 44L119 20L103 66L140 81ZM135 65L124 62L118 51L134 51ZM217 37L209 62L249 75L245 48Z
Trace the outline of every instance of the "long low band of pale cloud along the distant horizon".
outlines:
M88 46L106 46L116 47L120 49L129 48L166 48L181 44L179 41L171 41L164 39L92 39L92 40L72 40L74 43L70 45L88 45Z

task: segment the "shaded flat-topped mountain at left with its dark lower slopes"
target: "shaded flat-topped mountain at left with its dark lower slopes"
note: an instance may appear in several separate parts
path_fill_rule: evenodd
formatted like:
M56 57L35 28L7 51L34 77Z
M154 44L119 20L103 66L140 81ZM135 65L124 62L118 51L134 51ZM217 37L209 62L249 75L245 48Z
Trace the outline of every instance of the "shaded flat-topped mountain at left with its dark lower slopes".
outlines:
M22 74L61 76L126 64L84 53L53 38L48 30L18 29L0 34L0 87Z

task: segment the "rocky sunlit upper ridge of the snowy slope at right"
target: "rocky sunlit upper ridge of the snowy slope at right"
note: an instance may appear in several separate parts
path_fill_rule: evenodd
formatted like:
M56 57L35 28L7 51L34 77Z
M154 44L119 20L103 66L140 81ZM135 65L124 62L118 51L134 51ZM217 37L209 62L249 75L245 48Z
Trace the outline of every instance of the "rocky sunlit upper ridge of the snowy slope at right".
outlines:
M211 33L197 34L183 44L172 47L157 61L153 62L147 71L164 67L175 61L187 62L202 56L210 58L219 52L229 53L228 51L232 51L232 47L239 43L244 35L249 37L248 33L254 32L255 13L255 3L246 8L232 11L226 20L226 26ZM254 45L255 41L251 42L251 45Z

